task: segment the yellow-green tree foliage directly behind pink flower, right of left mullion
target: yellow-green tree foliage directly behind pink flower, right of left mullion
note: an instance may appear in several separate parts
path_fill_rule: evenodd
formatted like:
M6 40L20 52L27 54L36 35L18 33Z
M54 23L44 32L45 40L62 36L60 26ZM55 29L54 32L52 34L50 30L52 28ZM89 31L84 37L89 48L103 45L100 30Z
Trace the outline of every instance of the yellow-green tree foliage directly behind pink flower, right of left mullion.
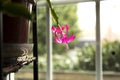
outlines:
M60 25L69 25L69 34L74 34L76 36L76 39L69 44L70 49L74 48L74 44L77 42L77 36L78 33L80 33L80 30L77 25L77 6L75 4L71 5L59 5L54 7L57 15L59 16L59 23ZM54 21L53 21L53 25ZM53 40L54 41L54 40ZM66 48L64 45L53 43L53 53L66 53Z

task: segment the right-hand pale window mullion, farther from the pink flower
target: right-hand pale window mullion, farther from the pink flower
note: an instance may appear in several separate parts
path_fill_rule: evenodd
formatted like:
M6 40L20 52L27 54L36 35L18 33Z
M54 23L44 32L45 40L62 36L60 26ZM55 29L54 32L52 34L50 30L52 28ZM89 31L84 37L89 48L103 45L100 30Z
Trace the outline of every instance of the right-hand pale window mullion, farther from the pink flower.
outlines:
M100 32L100 0L96 0L96 80L103 80Z

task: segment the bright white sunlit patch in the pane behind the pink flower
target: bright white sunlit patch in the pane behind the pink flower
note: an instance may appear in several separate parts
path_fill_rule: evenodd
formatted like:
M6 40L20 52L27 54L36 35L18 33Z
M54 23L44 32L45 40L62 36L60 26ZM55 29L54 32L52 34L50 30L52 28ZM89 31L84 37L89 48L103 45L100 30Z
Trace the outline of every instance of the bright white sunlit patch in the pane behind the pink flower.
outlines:
M95 35L95 6L94 2L78 4L78 24L82 30L82 37L92 38ZM89 34L89 35L88 35Z

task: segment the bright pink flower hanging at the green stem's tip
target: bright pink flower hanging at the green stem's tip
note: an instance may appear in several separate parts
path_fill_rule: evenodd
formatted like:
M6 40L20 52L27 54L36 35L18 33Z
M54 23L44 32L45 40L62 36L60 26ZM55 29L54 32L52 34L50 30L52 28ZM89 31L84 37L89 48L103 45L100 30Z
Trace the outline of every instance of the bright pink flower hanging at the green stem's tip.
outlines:
M62 27L52 26L52 32L54 33L54 40L56 43L65 44L68 48L68 43L72 42L75 39L74 35L68 37L69 26L66 24Z

